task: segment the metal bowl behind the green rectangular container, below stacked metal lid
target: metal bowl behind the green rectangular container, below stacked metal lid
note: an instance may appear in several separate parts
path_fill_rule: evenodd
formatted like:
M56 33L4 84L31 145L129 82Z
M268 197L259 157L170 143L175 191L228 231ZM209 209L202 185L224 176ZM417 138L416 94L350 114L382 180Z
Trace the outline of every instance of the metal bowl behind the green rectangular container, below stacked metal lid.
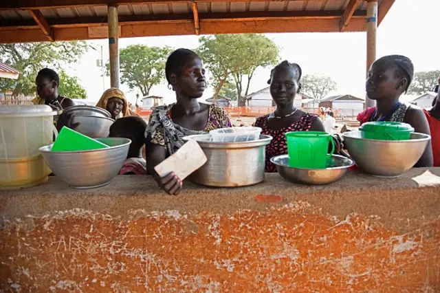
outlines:
M89 138L107 138L111 124L115 120L107 117L75 115L72 122L79 122L75 130Z

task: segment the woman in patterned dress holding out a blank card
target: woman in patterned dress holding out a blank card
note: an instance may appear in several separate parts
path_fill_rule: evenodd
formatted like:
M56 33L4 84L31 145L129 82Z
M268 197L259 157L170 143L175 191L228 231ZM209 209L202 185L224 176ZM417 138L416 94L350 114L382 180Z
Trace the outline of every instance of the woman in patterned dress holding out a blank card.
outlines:
M164 191L177 195L181 180L173 173L161 178L154 167L184 145L184 136L230 127L231 122L221 107L197 102L206 89L206 78L201 58L195 52L178 49L171 53L166 61L165 75L177 102L159 106L151 113L145 131L146 166Z

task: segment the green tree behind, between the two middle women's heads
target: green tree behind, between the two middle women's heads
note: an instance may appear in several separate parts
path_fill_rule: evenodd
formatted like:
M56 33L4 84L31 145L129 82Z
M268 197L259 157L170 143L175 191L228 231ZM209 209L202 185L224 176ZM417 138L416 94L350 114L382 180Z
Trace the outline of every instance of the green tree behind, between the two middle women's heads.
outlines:
M212 74L214 96L232 80L239 106L245 105L255 70L278 62L278 46L263 34L218 34L203 36L199 42L197 51Z

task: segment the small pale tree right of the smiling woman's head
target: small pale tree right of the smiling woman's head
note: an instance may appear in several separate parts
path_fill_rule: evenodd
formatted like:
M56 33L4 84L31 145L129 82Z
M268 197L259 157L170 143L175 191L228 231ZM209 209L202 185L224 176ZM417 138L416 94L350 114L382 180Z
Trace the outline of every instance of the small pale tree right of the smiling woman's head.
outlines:
M319 74L306 74L301 79L301 83L303 85L301 91L316 100L320 100L330 91L338 89L338 84L330 76Z

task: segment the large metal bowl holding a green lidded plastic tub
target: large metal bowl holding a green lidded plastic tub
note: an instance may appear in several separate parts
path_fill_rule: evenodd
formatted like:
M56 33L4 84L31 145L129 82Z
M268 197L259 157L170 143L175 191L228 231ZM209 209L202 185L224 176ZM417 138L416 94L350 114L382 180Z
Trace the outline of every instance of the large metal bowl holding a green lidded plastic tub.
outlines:
M344 146L361 171L378 177L399 177L421 158L430 135L411 133L409 140L367 140L360 131L344 133Z

